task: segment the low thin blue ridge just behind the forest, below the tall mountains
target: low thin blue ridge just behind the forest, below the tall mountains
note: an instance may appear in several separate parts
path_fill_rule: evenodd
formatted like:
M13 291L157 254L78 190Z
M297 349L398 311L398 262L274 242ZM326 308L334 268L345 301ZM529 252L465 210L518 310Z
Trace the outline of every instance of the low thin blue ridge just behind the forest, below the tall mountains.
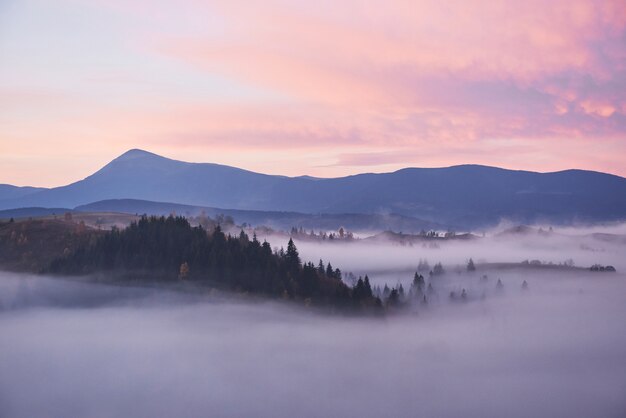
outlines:
M120 212L129 214L197 216L201 212L212 218L218 215L232 216L239 225L244 222L254 226L269 226L280 230L302 227L306 230L394 231L419 232L421 230L447 229L446 226L421 219L400 215L378 214L306 214L297 212L253 211L219 209L206 206L181 205L177 203L150 202L136 199L103 200L76 207L81 212ZM2 212L0 212L1 214Z

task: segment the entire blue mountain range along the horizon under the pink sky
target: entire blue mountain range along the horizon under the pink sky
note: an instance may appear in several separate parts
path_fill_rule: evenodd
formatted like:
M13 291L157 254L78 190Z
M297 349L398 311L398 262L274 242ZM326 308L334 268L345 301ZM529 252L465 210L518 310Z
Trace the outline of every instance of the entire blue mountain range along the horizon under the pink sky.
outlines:
M397 214L467 228L626 219L626 179L479 165L406 168L340 178L285 177L131 150L84 180L3 200L0 209L141 199L262 211Z

